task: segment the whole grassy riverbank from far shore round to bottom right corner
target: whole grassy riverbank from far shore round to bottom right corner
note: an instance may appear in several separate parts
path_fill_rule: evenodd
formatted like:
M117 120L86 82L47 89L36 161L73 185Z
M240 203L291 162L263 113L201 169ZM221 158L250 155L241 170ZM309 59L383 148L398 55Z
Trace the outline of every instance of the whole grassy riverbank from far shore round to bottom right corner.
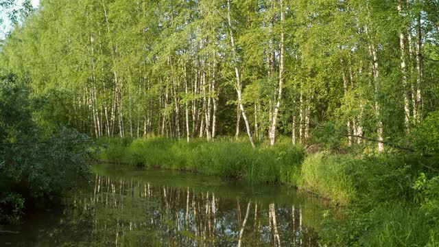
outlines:
M437 246L437 161L413 154L307 156L287 142L274 147L245 141L100 139L99 159L180 169L254 183L281 183L346 206L346 222L322 222L322 241L332 245ZM385 215L386 217L383 217ZM365 237L368 236L368 237Z

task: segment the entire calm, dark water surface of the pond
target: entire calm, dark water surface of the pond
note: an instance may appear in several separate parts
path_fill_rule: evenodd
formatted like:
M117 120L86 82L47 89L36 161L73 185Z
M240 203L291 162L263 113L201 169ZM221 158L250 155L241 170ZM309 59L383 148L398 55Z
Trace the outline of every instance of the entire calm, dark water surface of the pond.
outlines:
M97 165L62 211L27 217L0 246L318 246L327 202L294 189Z

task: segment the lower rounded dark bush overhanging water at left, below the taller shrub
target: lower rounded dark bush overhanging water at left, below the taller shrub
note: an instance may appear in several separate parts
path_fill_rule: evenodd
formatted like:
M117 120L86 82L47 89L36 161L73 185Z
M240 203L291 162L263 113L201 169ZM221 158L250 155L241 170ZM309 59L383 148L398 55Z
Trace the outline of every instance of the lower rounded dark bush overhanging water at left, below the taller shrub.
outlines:
M53 138L36 143L3 143L0 146L0 198L14 206L25 200L25 207L47 207L63 193L87 178L93 142L84 134L67 128ZM10 210L6 210L11 213ZM15 215L15 213L14 213Z

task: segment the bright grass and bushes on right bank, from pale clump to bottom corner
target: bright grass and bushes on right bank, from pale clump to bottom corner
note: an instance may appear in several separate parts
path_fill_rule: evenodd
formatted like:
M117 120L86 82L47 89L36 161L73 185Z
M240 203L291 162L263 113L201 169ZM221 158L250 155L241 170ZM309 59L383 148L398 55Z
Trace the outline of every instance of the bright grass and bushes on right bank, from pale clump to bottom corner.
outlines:
M322 242L330 246L435 246L438 178L418 176L419 171L431 172L431 160L401 154L398 158L329 154L307 158L301 180L305 189L337 200L349 195L352 202L341 226L333 215L324 220Z

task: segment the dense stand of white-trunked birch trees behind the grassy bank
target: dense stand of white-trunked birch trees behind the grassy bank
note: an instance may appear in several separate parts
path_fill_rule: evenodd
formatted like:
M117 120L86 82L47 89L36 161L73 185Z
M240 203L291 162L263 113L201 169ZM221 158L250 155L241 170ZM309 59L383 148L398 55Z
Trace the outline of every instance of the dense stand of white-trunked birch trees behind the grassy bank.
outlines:
M439 110L434 0L43 0L28 15L1 67L28 78L36 119L94 137L383 151Z

